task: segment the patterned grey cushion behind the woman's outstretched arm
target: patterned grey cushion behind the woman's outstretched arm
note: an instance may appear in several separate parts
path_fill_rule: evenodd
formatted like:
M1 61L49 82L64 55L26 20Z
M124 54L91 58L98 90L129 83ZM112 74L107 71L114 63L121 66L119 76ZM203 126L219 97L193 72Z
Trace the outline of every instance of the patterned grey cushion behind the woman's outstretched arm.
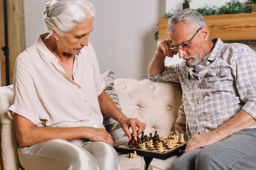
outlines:
M101 74L103 80L105 81L105 92L110 96L113 100L115 105L121 110L119 105L119 98L117 96L116 90L114 89L114 72L112 70L108 70ZM126 133L121 128L120 124L115 121L114 119L106 116L104 113L103 115L103 125L105 126L106 130L112 136L113 140L117 140L119 138L125 137Z

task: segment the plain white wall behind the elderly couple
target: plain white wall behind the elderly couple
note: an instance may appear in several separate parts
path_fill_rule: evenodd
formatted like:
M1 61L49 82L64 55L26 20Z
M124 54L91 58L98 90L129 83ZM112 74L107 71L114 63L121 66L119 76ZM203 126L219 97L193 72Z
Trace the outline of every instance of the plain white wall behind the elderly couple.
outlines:
M47 29L43 11L48 0L23 0L26 47ZM240 0L245 2L246 0ZM182 9L183 0L92 0L97 16L89 40L99 60L101 72L112 69L115 78L147 78L147 66L155 52L158 18ZM191 9L222 6L230 0L192 0ZM178 59L178 57L175 57ZM176 62L176 61L175 61ZM179 61L177 61L179 62Z

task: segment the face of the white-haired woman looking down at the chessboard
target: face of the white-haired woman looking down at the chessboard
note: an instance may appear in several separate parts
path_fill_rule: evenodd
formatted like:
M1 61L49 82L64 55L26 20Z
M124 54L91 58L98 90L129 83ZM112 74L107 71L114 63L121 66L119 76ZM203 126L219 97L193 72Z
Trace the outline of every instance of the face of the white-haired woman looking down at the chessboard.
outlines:
M67 32L56 40L57 51L61 54L76 54L83 46L88 46L88 36L93 29L93 18L79 24L73 31Z

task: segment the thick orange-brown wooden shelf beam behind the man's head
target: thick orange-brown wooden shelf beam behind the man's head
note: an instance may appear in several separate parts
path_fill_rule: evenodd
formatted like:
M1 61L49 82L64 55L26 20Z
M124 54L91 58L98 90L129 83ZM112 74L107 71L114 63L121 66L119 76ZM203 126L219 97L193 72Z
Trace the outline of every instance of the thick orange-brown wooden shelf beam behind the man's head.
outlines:
M203 16L210 38L219 37L223 41L256 40L256 13L239 13ZM158 21L158 40L170 39L166 32L169 18Z

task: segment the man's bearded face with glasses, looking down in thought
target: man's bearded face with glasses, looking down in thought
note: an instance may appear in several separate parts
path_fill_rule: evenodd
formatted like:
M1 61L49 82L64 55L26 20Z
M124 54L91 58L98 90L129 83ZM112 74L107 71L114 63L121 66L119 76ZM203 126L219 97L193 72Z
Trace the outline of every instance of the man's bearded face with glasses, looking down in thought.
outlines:
M198 31L198 32L197 32ZM193 35L195 35L193 37ZM173 46L178 48L179 57L186 60L189 65L197 65L204 58L205 44L200 39L200 29L190 27L184 22L180 22L175 26L175 30L170 34ZM191 40L191 38L193 39ZM189 44L187 44L190 41Z

